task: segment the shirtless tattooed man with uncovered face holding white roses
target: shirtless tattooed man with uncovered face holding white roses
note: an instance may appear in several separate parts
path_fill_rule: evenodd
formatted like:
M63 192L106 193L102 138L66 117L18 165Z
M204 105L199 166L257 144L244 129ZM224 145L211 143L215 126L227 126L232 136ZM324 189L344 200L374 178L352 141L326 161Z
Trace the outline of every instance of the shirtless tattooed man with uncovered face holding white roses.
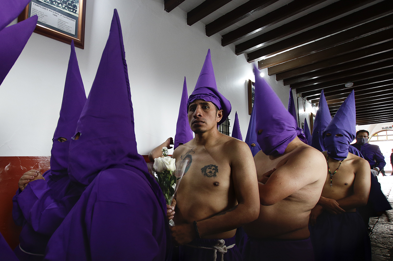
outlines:
M241 260L237 246L233 246L236 228L258 216L251 151L243 141L217 129L231 107L217 91L212 69L209 51L188 100L188 120L195 138L173 153L176 161L189 159L176 194L176 208L168 206L172 208L168 216L174 215L176 224L171 227L174 242L185 245L179 247L180 260L213 260L215 254L217 260L222 260L220 256L226 261Z

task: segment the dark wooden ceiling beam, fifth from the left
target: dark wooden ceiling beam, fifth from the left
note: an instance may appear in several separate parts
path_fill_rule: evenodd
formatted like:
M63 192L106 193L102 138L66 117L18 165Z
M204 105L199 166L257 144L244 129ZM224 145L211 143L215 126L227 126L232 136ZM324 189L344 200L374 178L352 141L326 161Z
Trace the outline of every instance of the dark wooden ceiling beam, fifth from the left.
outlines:
M237 44L235 46L235 53L237 55L242 53L248 53L259 47L281 40L286 36L290 36L291 34L297 34L300 31L309 28L310 26L323 23L329 19L350 12L353 9L361 7L365 4L369 4L371 2L374 2L374 0L341 0L335 2L312 13L306 14L296 20L293 20L290 23L281 25L280 27L272 29L264 34L258 35L250 40L242 42L241 44Z

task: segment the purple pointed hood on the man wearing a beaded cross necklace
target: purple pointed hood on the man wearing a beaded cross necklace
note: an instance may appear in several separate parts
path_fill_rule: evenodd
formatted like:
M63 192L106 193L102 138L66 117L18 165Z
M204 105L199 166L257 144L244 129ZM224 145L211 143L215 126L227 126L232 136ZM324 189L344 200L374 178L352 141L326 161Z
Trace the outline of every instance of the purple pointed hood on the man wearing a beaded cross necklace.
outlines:
M327 136L326 134L330 134ZM330 158L343 160L356 134L356 108L354 91L342 103L333 119L323 131L323 142Z

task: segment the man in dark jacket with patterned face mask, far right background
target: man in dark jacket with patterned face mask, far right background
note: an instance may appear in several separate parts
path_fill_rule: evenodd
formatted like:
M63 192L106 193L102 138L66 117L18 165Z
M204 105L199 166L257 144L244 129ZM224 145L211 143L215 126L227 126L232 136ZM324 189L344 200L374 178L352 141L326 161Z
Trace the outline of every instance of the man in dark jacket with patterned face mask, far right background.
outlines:
M356 132L356 143L351 144L364 156L364 159L370 163L371 172L374 176L385 167L386 162L379 146L368 143L369 132L367 130L358 130ZM386 176L383 174L383 176Z

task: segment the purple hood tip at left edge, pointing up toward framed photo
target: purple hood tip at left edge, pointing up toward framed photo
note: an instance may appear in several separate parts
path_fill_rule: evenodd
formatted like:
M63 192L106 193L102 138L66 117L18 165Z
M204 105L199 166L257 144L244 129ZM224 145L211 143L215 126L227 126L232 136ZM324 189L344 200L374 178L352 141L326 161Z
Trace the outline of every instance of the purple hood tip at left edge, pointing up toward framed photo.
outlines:
M35 25L37 25L37 19L37 15L31 16L0 31L0 84L6 78L19 54L22 53Z

